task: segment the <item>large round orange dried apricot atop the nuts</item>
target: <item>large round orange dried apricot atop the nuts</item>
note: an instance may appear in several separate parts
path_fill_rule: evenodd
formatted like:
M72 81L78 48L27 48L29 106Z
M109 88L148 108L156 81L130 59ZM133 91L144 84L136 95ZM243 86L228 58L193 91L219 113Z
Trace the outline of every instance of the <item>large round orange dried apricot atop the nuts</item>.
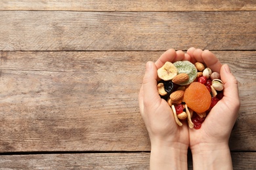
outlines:
M192 82L184 92L184 102L197 113L205 112L211 105L211 93L200 82Z

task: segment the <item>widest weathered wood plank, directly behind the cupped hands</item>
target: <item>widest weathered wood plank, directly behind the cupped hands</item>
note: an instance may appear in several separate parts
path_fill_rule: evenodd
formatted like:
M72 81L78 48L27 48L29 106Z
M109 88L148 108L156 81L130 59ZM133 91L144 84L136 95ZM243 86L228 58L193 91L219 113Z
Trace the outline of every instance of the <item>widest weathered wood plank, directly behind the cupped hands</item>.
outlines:
M256 150L256 52L214 53L240 86L230 148ZM137 95L161 54L0 52L0 152L150 150Z

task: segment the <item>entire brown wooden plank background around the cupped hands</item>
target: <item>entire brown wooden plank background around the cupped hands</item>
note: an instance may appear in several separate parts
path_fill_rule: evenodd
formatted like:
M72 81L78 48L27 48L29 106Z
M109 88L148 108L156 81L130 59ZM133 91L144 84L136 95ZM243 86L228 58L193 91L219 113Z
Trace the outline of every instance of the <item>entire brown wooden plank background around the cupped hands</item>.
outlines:
M145 63L190 46L238 79L230 150L256 169L255 0L1 0L0 169L148 169Z

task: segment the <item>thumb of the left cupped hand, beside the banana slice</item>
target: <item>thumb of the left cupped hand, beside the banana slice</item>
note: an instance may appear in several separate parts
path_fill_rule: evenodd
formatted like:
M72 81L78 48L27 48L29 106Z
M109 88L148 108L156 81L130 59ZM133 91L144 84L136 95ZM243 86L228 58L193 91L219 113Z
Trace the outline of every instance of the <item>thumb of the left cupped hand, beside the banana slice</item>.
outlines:
M144 105L154 105L161 101L157 88L157 69L152 61L146 63L146 73L143 78L143 103Z

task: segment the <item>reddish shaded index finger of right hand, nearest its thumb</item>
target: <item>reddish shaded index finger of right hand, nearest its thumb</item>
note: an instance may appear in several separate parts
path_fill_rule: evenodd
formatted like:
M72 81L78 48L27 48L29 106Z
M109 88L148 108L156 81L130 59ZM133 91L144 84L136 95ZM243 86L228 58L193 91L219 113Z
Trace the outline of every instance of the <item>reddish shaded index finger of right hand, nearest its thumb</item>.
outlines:
M209 50L204 50L202 52L202 58L207 67L209 67L212 71L217 71L219 73L222 64L212 52Z

